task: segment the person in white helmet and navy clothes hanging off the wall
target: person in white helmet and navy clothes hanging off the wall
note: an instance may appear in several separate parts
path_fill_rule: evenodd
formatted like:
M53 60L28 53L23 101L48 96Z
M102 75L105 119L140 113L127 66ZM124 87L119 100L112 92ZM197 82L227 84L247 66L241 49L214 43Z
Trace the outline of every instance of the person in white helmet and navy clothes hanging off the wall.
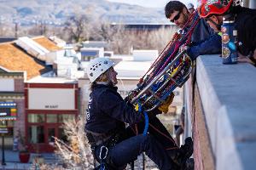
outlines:
M160 169L181 169L154 133L135 136L131 128L125 128L125 123L141 123L144 118L117 92L118 73L113 65L108 58L97 58L87 67L91 94L85 132L96 160L105 162L109 169L124 169L127 163L145 152Z

